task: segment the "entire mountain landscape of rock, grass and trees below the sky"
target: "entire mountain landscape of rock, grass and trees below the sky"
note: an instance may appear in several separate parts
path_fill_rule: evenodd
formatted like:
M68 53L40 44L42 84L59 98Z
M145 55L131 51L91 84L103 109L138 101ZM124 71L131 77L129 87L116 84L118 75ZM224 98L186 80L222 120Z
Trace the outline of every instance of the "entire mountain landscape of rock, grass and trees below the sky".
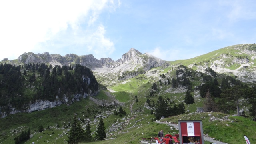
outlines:
M139 144L178 134L166 123L179 120L202 120L211 140L255 144L256 44L175 61L134 48L116 61L48 52L0 61L0 144Z

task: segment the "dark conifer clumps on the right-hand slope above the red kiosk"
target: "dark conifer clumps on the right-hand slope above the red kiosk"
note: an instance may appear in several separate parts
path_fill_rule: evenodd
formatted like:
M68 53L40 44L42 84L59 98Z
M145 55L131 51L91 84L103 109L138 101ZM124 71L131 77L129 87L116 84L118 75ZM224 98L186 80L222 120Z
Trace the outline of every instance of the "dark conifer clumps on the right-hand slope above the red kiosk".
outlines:
M236 76L222 76L220 84L217 79L217 74L211 68L205 69L206 73L210 75L201 73L202 84L196 87L199 90L201 98L205 98L204 111L205 112L223 112L228 113L231 110L236 110L237 115L240 116L240 100L243 98L248 104L249 115L256 120L256 86L248 86L248 84L243 84L240 80L237 80ZM188 70L186 66L178 66L176 70L176 78L172 78L172 88L178 88L179 86L186 87L187 91L185 93L184 102L185 104L193 104L195 102L194 97L191 92L193 91L189 79L194 79L194 72ZM160 76L163 78L163 76ZM165 77L165 76L164 76ZM149 96L153 96L158 91L157 84L153 83ZM175 115L174 108L179 106L168 105L168 101L162 100L163 98L158 98L158 103L156 104L155 115L156 118L160 118L160 115L171 116ZM158 104L161 102L161 106ZM149 106L149 99L147 100ZM153 103L154 105L154 103ZM164 108L160 108L164 107ZM166 111L164 111L166 110ZM182 110L182 108L180 109ZM183 112L183 110L182 110ZM177 113L178 114L178 113ZM243 114L243 116L245 116Z

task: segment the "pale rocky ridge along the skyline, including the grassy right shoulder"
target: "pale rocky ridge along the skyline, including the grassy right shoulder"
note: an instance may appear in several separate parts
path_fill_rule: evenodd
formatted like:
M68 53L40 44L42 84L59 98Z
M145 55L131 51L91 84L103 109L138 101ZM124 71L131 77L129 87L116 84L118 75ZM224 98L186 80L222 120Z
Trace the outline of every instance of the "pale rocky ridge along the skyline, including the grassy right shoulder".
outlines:
M150 71L152 68L162 66L163 68L170 67L176 68L182 64L197 70L198 72L205 73L205 69L210 67L212 70L218 73L224 73L228 75L236 76L242 82L256 82L256 44L239 44L234 46L228 46L226 48L220 48L208 54L197 56L195 58L187 60L166 61L160 58L156 58L150 54L142 54L135 48L131 48L128 52L122 55L122 58L118 60L112 60L111 58L100 58L100 60L94 58L92 54L78 56L76 54L66 54L61 56L59 54L49 54L44 52L43 54L34 54L28 52L18 57L18 62L23 64L29 63L46 63L53 66L75 66L80 64L86 66L95 72L95 75L114 74L115 79L122 77L124 72L139 72L147 73L148 76L152 76L152 73L158 74L160 71ZM8 62L4 59L1 62ZM9 62L13 62L10 60ZM156 74L156 76L157 76ZM136 76L123 76L123 78L131 78Z

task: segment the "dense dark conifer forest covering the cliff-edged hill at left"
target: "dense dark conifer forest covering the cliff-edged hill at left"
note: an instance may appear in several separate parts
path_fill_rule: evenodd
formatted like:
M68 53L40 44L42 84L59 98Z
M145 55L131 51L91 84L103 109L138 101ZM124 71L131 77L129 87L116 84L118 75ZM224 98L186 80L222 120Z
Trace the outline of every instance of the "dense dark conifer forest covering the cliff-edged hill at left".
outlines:
M36 100L53 101L65 94L89 94L99 90L98 82L90 70L77 64L52 66L42 64L0 64L0 106L8 113L8 105L25 108Z

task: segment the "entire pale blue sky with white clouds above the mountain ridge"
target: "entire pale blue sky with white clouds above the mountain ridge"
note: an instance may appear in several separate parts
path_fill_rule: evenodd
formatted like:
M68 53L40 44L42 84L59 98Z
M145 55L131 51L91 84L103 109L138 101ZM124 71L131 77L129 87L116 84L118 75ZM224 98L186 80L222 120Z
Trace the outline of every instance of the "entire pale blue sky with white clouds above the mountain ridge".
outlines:
M0 60L23 53L184 60L256 43L255 0L1 0Z

